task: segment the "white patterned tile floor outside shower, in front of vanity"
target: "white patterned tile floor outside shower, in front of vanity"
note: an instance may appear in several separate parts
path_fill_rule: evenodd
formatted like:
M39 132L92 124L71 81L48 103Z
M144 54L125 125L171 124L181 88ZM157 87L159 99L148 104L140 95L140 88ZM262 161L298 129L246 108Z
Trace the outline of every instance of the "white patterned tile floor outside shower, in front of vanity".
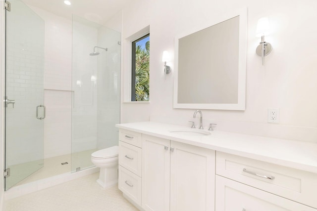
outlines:
M100 187L99 172L4 202L5 211L138 211L117 186Z

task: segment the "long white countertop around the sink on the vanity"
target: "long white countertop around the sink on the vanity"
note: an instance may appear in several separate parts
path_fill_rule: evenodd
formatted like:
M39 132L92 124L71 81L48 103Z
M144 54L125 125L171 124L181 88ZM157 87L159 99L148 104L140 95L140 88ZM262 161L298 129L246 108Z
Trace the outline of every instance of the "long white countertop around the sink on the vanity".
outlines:
M156 122L126 123L116 127L317 173L317 143L219 130L210 131L211 135L206 136L181 135L169 131L191 128Z

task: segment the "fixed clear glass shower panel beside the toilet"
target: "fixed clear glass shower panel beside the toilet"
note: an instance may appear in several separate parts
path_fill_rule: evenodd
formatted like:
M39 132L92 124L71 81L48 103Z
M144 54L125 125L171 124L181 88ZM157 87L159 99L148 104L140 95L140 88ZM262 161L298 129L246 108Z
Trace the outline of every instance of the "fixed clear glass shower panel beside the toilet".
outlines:
M73 16L71 171L92 167L91 154L118 145L120 33Z

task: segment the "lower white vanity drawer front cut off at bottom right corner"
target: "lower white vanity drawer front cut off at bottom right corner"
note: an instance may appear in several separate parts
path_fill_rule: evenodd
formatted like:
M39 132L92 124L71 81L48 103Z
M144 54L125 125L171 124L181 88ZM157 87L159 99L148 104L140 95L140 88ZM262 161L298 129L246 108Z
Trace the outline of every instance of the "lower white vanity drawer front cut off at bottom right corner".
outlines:
M311 207L216 175L216 211L313 211Z

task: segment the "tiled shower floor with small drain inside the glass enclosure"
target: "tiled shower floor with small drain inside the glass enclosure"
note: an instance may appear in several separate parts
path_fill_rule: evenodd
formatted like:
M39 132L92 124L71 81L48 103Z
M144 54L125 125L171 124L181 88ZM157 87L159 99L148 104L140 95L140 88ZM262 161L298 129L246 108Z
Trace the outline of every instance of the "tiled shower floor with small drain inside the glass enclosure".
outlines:
M57 156L53 158L46 158L44 159L43 168L35 171L30 176L26 177L25 179L18 182L14 186L23 185L29 182L34 182L40 179L45 179L51 176L67 173L70 171L76 171L76 168L78 167L80 167L81 170L87 169L89 167L93 167L94 165L91 162L91 154L95 152L96 150L97 149L91 149L91 150L73 153L72 155L67 154L67 155ZM61 163L65 163L65 162L67 162L68 164L61 165ZM23 164L24 169L27 169L28 168L27 166L28 166L27 164ZM71 166L73 167L71 168ZM21 169L21 164L11 166L10 168L13 170L14 168ZM13 177L14 175L10 175L10 177L11 176Z

